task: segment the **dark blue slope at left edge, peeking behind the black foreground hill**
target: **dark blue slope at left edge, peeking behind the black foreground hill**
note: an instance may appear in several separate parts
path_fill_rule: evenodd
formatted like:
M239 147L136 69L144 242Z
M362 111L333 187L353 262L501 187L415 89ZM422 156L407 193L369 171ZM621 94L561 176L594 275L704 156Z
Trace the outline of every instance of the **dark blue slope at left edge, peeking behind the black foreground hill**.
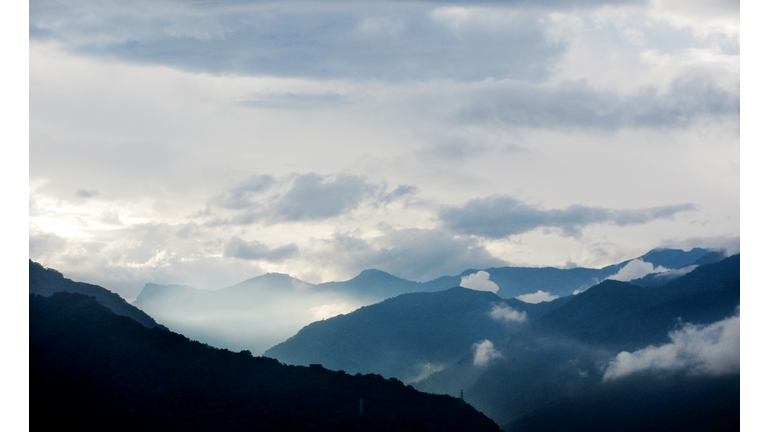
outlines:
M42 264L29 260L29 293L47 297L56 292L85 294L94 297L96 301L112 312L133 318L146 327L165 328L144 311L132 306L112 291L98 285L74 282L71 279L66 279L64 275L54 269L45 268Z

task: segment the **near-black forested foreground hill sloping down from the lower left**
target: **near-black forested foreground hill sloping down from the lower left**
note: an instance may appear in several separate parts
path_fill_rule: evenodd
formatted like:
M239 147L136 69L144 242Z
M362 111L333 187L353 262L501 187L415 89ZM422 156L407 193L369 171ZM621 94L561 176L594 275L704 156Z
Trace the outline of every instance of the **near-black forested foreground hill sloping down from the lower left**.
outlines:
M32 429L499 430L450 396L211 348L85 295L30 295L29 308Z

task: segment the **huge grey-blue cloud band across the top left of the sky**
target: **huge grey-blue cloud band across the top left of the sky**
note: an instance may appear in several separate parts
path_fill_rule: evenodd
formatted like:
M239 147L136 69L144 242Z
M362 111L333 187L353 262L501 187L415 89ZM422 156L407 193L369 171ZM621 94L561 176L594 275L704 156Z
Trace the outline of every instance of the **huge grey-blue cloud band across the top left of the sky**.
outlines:
M540 81L563 53L562 44L543 34L537 11L520 9L495 27L468 22L458 28L450 17L433 15L440 6L38 1L30 5L30 38L55 40L78 53L194 72L395 81Z

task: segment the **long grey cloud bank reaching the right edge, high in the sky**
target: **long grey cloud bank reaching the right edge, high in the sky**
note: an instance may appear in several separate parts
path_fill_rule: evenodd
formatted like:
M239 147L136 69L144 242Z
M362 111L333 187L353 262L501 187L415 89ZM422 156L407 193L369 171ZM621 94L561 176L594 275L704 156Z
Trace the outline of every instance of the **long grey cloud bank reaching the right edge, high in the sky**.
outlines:
M536 128L682 127L740 113L738 89L722 88L706 75L678 78L666 93L647 88L621 96L570 82L554 88L501 84L468 96L455 113L460 122Z

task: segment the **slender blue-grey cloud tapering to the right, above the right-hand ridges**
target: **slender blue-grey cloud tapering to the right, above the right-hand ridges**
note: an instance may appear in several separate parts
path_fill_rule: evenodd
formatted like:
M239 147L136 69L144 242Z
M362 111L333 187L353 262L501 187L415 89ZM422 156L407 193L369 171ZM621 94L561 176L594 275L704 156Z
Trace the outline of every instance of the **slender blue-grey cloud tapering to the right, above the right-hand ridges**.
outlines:
M582 205L544 210L511 197L494 196L471 200L462 207L444 207L439 211L439 218L446 229L457 234L500 239L537 228L557 228L566 236L579 236L587 225L639 225L695 209L692 204L682 204L638 210Z

